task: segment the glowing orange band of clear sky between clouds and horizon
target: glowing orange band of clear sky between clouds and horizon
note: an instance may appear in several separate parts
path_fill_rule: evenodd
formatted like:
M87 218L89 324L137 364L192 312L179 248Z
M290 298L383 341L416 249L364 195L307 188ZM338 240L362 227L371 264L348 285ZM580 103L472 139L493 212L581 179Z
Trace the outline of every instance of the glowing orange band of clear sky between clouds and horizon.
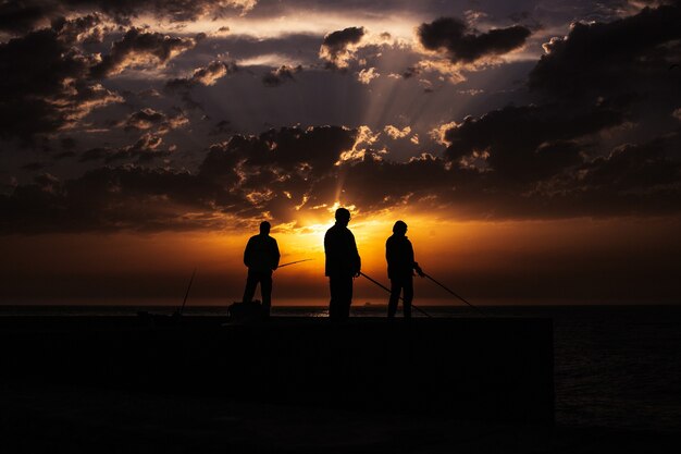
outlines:
M323 234L331 225L275 226L282 262L275 304L325 304ZM669 303L680 294L678 219L456 222L404 212L356 217L362 271L387 284L384 244L396 219L409 224L423 269L473 303ZM255 232L78 234L0 238L2 304L178 304L194 267L194 304L240 298L243 247ZM417 300L444 298L417 280ZM355 303L384 303L383 291L356 281Z

